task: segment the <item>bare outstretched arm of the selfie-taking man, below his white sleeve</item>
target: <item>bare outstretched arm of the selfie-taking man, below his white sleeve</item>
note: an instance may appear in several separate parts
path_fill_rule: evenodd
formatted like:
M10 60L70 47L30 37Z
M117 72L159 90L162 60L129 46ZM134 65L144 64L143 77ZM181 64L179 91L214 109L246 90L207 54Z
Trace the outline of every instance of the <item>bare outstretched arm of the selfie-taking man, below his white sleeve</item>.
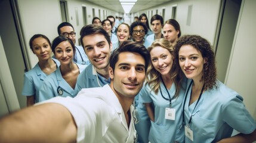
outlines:
M27 107L0 119L0 142L76 142L76 124L63 105Z

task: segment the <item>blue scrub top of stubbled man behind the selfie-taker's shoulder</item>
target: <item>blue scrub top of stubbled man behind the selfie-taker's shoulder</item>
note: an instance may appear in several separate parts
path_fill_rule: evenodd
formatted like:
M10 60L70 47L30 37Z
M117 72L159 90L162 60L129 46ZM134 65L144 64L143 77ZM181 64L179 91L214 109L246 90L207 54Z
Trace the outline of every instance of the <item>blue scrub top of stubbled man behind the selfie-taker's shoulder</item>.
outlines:
M109 79L106 79L103 76L100 76L100 74L98 74L95 70L94 66L89 64L87 68L82 71L81 74L79 74L76 85L78 86L79 91L81 91L82 88L96 88L109 83L110 77Z

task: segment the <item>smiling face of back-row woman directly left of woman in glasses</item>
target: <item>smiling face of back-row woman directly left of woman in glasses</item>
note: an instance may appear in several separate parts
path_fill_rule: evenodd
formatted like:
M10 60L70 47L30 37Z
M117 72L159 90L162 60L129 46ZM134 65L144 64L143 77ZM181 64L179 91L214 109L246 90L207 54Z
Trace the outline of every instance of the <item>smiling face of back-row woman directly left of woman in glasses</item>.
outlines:
M116 35L118 36L118 41L120 43L127 41L131 37L129 34L129 27L125 24L120 24Z

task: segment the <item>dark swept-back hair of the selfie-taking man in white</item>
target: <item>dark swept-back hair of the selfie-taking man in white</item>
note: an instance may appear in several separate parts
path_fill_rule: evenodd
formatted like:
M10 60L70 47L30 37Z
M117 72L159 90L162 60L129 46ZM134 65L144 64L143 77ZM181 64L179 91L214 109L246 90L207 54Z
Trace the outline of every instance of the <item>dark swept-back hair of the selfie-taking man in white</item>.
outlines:
M113 71L115 71L115 65L118 62L119 54L122 52L135 52L137 54L140 54L144 60L145 60L145 73L147 71L147 67L149 66L150 62L150 54L149 51L147 51L147 48L141 43L135 42L135 41L124 41L119 46L119 48L116 48L112 54L110 55L110 67L112 67Z

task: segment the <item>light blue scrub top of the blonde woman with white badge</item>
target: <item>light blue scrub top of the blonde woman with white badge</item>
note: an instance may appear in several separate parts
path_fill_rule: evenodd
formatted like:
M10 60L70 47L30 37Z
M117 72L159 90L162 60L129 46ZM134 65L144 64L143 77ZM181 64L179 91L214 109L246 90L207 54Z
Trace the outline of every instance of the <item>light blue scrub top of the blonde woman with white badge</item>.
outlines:
M183 83L184 88L181 88L178 97L171 100L171 108L175 109L175 120L165 119L165 109L169 108L169 100L166 99L169 99L169 96L162 82L160 83L160 88L162 95L166 99L162 97L160 90L158 91L158 94L155 94L149 85L144 85L138 94L140 102L151 102L154 105L155 122L151 121L151 128L149 132L149 141L151 143L166 143L175 141L184 142L184 128L181 128L180 130L182 123L182 103L186 89L186 82ZM172 84L171 88L168 89L168 92L171 98L173 98L176 92L174 83ZM145 131L146 130L144 130L144 132Z

